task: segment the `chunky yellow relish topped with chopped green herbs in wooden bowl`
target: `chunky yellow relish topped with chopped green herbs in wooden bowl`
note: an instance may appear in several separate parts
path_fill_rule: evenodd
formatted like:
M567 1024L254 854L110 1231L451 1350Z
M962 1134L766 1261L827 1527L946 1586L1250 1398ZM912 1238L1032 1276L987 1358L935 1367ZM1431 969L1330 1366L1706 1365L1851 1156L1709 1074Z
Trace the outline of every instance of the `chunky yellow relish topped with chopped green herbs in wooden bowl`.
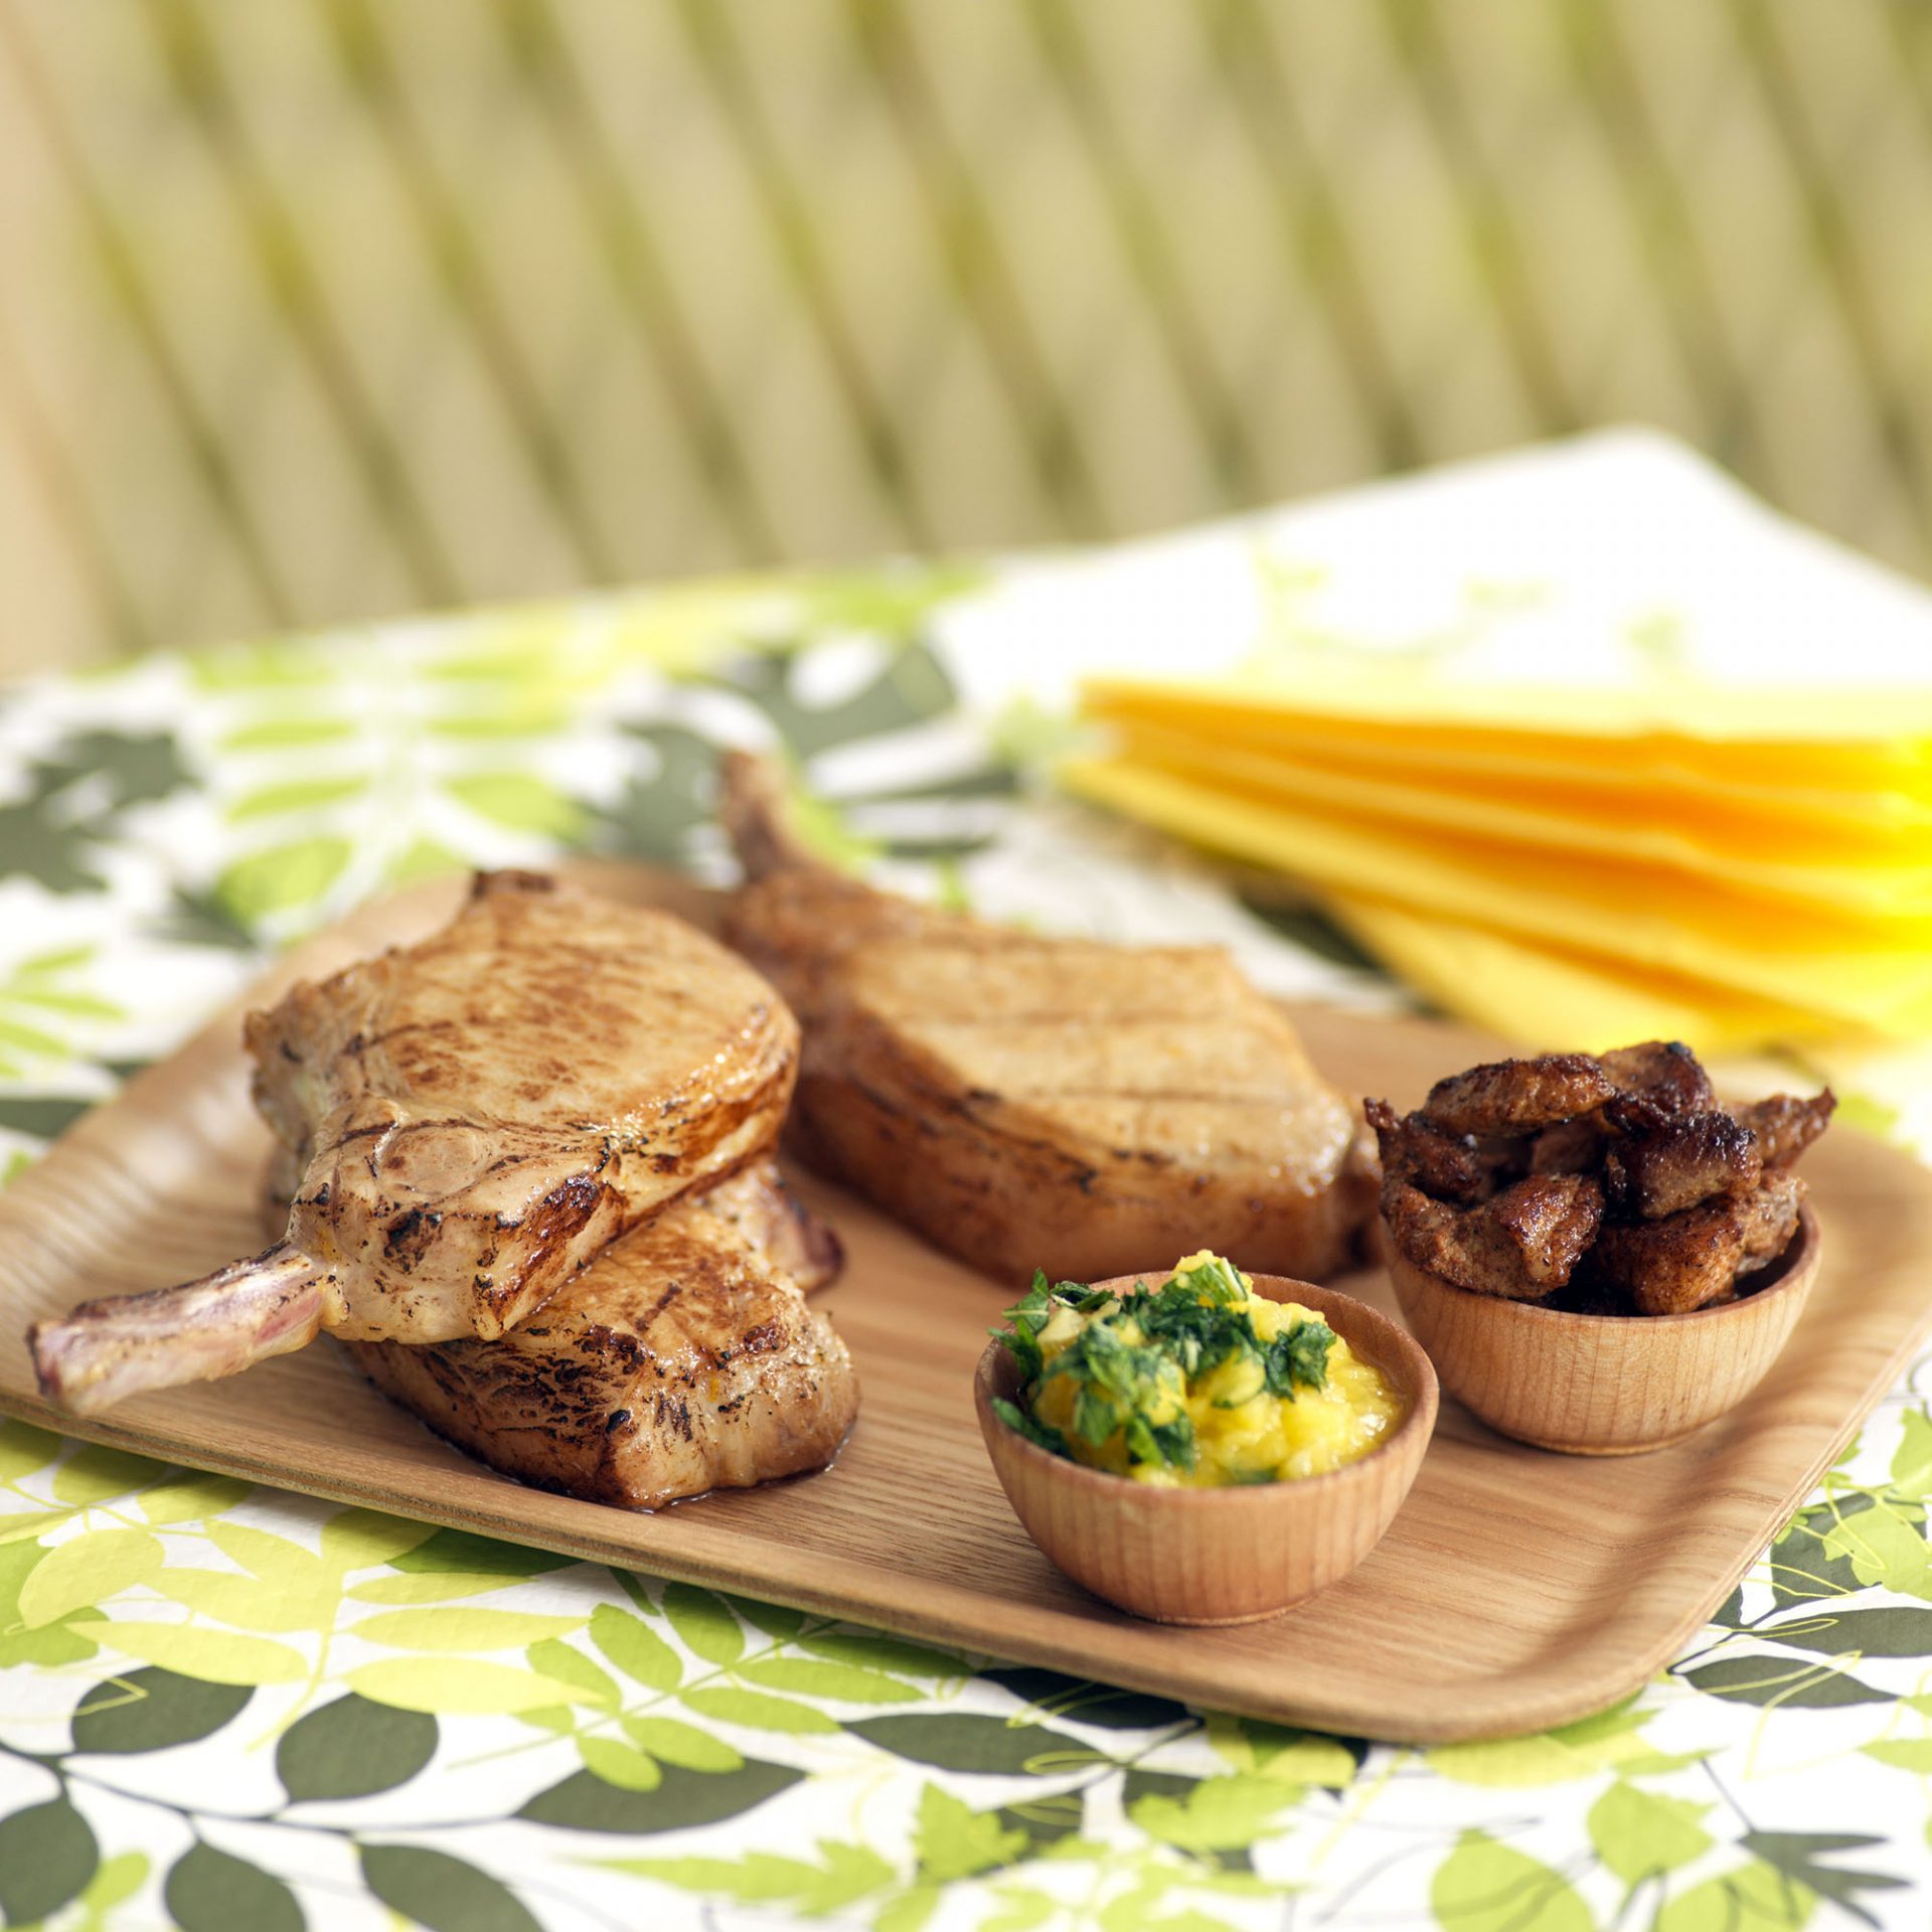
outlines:
M1403 1418L1389 1379L1312 1308L1273 1302L1217 1254L1109 1294L1034 1275L995 1329L1022 1374L1010 1428L1165 1488L1320 1476Z

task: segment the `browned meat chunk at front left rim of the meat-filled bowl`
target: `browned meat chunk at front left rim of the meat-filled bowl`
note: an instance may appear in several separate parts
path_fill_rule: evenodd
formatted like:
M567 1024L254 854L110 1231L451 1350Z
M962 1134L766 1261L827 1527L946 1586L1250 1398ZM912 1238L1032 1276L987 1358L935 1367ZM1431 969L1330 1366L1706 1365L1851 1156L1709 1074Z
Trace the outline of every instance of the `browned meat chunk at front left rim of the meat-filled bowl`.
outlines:
M1381 1198L1389 1235L1416 1267L1515 1302L1561 1289L1604 1219L1602 1188L1586 1175L1530 1175L1474 1208L1432 1202L1406 1180Z

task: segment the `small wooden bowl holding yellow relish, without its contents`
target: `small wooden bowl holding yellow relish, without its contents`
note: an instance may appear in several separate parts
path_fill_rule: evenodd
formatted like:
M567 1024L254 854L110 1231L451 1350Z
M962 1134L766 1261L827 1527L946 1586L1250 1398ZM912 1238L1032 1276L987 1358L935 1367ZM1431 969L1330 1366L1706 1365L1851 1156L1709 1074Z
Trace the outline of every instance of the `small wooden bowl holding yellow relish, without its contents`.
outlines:
M1134 1275L1095 1287L1126 1291ZM1325 1476L1227 1490L1155 1490L1068 1463L993 1414L1014 1401L1018 1368L993 1341L980 1356L974 1406L1007 1501L1049 1563L1095 1596L1157 1623L1258 1623L1341 1580L1381 1542L1422 1468L1435 1428L1430 1358L1387 1316L1349 1294L1283 1275L1256 1293L1300 1302L1374 1362L1405 1405L1378 1449Z

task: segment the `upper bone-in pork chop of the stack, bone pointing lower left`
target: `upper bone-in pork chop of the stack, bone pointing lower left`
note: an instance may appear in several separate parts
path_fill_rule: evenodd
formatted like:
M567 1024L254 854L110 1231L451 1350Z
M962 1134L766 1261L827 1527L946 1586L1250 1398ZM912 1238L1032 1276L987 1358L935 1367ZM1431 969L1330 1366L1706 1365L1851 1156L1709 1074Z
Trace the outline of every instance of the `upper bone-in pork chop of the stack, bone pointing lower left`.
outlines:
M68 1408L232 1376L321 1327L502 1335L626 1229L771 1148L798 1026L668 914L491 873L440 933L251 1014L247 1045L301 1167L288 1235L41 1323L35 1370Z

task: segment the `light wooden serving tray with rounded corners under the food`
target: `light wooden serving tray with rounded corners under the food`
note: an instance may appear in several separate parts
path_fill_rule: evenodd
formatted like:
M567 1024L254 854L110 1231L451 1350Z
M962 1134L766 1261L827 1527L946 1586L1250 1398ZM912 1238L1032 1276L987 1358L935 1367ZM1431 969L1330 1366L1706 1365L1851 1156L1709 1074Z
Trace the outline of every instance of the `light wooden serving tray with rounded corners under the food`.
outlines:
M705 918L692 887L572 867L612 896ZM439 925L456 881L365 908L284 960L249 1005ZM35 1393L25 1325L93 1294L199 1275L261 1246L269 1134L240 1007L87 1115L0 1196L0 1410L195 1468L647 1569L908 1636L993 1650L1209 1708L1416 1743L1499 1737L1634 1690L1706 1621L1932 1329L1932 1175L1837 1128L1806 1159L1822 1279L1795 1347L1741 1408L1675 1449L1598 1463L1490 1434L1449 1399L1387 1540L1273 1623L1138 1623L1066 1582L993 1480L972 1370L1020 1283L991 1283L808 1175L850 1265L819 1298L864 1406L821 1476L628 1515L522 1488L377 1395L332 1345L77 1422ZM1412 1105L1484 1039L1306 1009L1350 1094ZM1200 1229L1177 1227L1175 1254ZM1236 1256L1238 1260L1238 1256ZM1387 1281L1341 1287L1393 1314Z

